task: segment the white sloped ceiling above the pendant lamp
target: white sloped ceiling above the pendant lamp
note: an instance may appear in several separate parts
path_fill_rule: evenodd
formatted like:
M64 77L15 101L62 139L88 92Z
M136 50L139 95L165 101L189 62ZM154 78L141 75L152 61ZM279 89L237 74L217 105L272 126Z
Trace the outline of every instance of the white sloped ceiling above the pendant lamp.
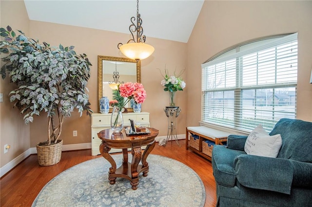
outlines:
M136 0L24 0L30 20L130 34ZM139 0L143 35L187 42L204 0Z

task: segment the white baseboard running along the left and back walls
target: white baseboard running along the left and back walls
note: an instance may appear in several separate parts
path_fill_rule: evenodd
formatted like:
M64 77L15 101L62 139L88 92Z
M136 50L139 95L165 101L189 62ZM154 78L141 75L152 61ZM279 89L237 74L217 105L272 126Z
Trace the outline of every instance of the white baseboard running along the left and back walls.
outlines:
M185 135L177 135L177 139L185 139ZM159 140L167 139L167 136L156 137L155 140L158 142ZM172 138L175 140L175 138ZM171 137L169 138L169 141ZM84 149L91 149L91 143L81 143L81 144L66 144L62 146L62 151L71 151L71 150L84 150ZM17 166L21 161L23 161L26 157L32 154L37 154L36 147L29 148L12 161L8 162L6 165L0 168L0 177L4 174L12 170L15 166Z

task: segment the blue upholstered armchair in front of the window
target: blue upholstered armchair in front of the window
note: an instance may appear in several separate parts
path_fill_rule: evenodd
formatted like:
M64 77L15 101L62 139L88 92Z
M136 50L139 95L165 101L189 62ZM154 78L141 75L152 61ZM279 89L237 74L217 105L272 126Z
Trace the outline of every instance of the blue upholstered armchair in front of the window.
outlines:
M281 119L269 135L276 134L282 138L276 158L247 155L247 136L214 146L216 206L312 206L312 122Z

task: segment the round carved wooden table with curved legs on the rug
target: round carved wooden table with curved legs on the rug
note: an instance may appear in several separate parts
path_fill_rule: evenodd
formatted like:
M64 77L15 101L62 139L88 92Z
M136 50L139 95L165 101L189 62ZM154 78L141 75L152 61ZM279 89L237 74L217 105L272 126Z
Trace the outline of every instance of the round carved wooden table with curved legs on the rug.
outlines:
M146 162L147 156L152 152L155 147L155 138L158 135L158 130L148 128L151 133L141 135L126 135L125 129L119 133L114 133L111 129L104 129L98 133L98 138L102 140L99 146L101 155L111 163L112 167L109 169L109 183L115 184L117 177L122 177L130 180L132 189L137 190L138 175L143 172L143 176L147 176L149 166ZM141 146L146 148L143 152ZM123 162L117 169L116 162L109 154L111 148L122 149ZM128 148L132 151L132 161L128 162ZM139 162L141 161L141 164Z

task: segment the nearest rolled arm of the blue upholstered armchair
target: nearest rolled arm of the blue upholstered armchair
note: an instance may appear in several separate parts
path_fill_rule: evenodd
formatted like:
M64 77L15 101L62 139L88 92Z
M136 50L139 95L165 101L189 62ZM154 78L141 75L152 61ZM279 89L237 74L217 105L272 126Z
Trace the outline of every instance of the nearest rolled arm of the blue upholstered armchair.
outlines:
M238 155L234 169L238 182L245 187L291 193L294 170L288 159Z

